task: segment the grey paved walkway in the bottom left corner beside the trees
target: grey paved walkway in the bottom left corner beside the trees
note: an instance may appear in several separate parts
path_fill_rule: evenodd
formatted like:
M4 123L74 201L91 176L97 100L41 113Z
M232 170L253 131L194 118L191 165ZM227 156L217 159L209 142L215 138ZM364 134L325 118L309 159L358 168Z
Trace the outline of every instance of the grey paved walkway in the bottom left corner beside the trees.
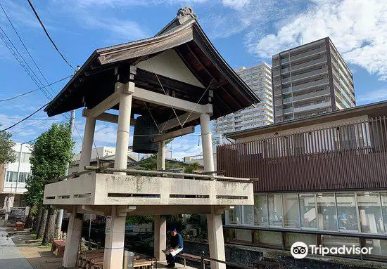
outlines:
M11 237L7 238L4 227L0 227L0 268L33 269L27 259L20 253ZM8 239L8 240L7 240Z

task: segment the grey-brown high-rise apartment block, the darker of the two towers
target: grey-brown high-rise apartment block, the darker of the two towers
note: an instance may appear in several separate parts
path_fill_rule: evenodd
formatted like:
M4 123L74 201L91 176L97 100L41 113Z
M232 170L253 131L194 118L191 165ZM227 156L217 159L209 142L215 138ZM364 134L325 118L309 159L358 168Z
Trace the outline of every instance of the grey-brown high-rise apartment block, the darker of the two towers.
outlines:
M272 56L275 122L355 106L353 76L329 37Z

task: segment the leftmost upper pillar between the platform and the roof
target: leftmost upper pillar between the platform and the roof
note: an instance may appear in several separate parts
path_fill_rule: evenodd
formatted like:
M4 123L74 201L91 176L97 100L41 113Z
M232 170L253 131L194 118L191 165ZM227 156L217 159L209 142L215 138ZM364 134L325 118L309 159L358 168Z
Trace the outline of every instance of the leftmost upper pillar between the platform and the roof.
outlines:
M86 124L84 124L80 167L78 171L84 171L84 166L90 165L91 150L93 149L95 129L96 129L96 119L92 117L86 117Z

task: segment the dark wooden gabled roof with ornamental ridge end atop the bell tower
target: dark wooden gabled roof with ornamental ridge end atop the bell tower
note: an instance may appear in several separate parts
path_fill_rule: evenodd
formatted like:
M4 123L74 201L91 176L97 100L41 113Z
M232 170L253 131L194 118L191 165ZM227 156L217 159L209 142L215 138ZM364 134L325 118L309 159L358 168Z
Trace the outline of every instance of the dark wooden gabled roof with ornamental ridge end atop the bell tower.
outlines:
M80 107L91 109L114 92L114 84L118 81L115 70L125 70L170 49L179 55L204 86L194 86L159 74L161 84L171 95L197 103L205 88L210 86L213 97L210 98L207 91L200 103L212 103L212 119L260 102L211 44L191 8L182 8L177 17L155 37L94 51L44 111L51 117ZM163 93L153 72L137 68L134 83L140 88ZM148 107L159 123L167 121L172 114L170 107L153 104L148 104ZM118 109L118 105L113 108ZM143 114L145 111L143 102L132 101L132 114ZM193 121L189 124L197 123Z

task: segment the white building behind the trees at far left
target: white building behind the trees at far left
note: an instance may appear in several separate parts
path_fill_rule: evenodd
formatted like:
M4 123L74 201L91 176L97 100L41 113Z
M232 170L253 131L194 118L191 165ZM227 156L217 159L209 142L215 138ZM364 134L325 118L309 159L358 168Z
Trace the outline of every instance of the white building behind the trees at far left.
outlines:
M15 150L17 159L15 162L5 165L4 187L1 191L3 193L23 194L27 191L25 189L25 178L30 176L31 173L30 156L32 147L28 144L16 143L12 149Z

